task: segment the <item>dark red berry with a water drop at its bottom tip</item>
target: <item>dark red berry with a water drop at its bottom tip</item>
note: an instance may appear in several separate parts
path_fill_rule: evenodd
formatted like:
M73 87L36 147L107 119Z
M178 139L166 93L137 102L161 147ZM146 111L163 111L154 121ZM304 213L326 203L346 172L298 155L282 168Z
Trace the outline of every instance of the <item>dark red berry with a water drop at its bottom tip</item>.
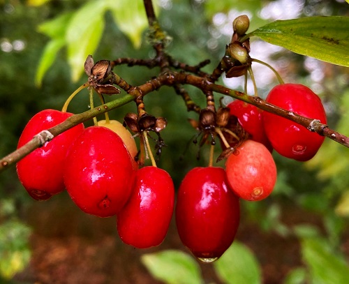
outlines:
M176 205L179 237L195 257L211 262L230 247L239 226L239 197L221 167L195 167L179 187Z

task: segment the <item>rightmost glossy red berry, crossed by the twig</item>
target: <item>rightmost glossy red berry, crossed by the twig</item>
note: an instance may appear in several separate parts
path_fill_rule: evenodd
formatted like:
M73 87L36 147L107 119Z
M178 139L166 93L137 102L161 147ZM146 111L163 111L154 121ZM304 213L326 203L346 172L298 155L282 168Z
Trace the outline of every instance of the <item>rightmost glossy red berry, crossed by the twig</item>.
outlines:
M302 84L281 84L270 91L267 102L303 117L319 119L326 124L320 98ZM276 114L263 112L265 131L274 149L287 158L305 161L315 156L325 137Z

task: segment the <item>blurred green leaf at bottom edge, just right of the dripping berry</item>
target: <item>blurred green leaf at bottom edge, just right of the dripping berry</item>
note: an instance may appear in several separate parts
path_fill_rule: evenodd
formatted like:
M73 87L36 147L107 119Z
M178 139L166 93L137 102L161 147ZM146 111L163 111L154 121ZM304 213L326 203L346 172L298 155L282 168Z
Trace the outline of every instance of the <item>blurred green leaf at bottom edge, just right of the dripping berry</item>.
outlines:
M258 260L249 248L237 241L214 262L214 267L224 283L262 283Z

